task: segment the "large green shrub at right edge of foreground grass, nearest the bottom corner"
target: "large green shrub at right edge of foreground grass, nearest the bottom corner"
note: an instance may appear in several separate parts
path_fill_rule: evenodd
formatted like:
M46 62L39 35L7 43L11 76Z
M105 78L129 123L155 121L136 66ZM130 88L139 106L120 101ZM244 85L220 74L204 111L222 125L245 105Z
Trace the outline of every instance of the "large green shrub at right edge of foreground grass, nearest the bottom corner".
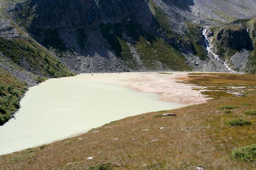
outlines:
M235 149L232 151L231 156L233 159L256 161L256 144Z

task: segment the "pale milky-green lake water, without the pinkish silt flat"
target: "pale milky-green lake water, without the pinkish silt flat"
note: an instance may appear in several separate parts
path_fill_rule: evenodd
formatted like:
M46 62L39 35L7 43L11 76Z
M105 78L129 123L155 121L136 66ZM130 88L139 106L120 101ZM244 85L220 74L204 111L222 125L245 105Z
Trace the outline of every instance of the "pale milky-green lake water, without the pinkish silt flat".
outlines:
M16 120L0 127L0 155L67 138L128 116L186 106L157 98L157 94L106 82L76 77L50 79L29 88Z

